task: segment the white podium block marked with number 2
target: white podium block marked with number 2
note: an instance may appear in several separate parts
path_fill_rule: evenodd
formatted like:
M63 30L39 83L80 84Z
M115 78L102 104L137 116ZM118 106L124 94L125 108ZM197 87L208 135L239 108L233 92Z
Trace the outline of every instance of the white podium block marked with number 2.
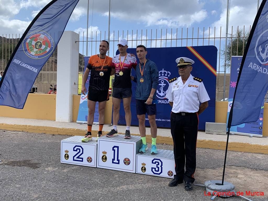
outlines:
M89 142L81 142L83 136L73 136L61 140L61 163L96 167L97 142L92 137Z

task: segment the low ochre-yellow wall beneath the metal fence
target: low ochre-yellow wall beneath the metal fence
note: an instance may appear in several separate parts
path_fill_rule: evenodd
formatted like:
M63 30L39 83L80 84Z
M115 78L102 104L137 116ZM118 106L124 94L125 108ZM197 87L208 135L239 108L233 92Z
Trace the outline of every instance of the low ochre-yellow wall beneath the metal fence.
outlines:
M73 95L72 121L76 122L80 95ZM216 101L215 122L226 123L227 101ZM112 98L106 103L105 124L111 124ZM29 94L24 109L0 106L1 117L29 118L55 121L56 116L56 95L54 94ZM268 136L268 103L264 103L263 114L263 136Z

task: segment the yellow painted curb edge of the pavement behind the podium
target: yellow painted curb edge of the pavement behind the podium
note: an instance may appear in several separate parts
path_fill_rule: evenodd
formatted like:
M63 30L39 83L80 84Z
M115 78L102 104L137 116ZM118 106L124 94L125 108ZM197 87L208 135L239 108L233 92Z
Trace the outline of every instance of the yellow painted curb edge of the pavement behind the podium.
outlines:
M51 126L34 126L34 125L19 125L19 124L0 124L0 129L8 131L24 131L31 133L46 133L54 135L79 135L84 136L85 129L75 129L75 128L57 128ZM97 135L98 131L92 131L92 135ZM108 133L103 131L103 134ZM125 134L125 133L119 133ZM139 136L139 134L132 134ZM147 140L151 140L151 136L146 136ZM158 143L165 143L173 145L173 140L171 137L157 136ZM197 140L196 146L199 148L210 148L225 150L226 142L224 141L214 141L214 140ZM251 152L251 153L260 153L268 154L268 146L260 144L250 144L250 143L240 143L240 142L229 142L228 143L229 151L242 151L242 152Z

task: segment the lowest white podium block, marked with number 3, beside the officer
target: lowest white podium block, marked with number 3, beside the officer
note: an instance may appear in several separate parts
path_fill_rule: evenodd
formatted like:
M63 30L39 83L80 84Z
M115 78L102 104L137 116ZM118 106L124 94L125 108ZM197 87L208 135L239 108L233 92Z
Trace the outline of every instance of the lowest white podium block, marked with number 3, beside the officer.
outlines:
M174 178L175 161L173 151L158 150L158 154L138 153L136 158L136 173L158 177Z

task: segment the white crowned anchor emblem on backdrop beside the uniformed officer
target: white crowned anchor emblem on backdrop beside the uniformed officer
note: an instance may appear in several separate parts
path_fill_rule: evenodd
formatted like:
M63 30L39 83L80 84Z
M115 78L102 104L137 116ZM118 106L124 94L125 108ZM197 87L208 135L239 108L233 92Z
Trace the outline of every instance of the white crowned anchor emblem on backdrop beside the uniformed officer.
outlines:
M156 96L160 99L164 99L166 96L166 92L168 91L168 87L169 87L169 79L168 77L170 76L170 72L166 71L164 69L162 69L161 71L159 71L159 84L157 87L157 91L156 91Z

